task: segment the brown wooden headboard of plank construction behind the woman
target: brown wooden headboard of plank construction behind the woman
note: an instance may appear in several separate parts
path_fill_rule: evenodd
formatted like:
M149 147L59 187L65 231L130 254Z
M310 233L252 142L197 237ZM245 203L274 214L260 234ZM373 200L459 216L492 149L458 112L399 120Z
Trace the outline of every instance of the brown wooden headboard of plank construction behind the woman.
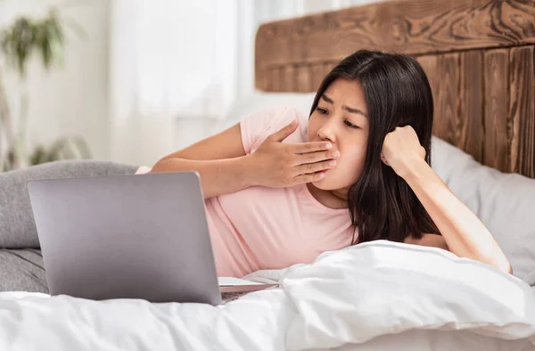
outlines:
M416 56L433 133L504 172L535 177L535 1L408 0L260 26L256 87L314 92L359 49Z

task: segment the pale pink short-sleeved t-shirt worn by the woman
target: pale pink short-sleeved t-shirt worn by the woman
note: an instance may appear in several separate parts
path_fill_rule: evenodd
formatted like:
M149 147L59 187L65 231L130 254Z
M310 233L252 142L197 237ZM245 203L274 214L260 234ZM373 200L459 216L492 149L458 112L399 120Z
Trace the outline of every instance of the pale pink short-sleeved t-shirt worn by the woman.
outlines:
M299 118L284 143L308 141L308 116L291 107L262 110L241 122L243 149L251 154L264 140ZM218 276L242 277L260 269L310 263L320 253L342 249L353 238L347 208L327 208L306 184L254 186L205 201Z

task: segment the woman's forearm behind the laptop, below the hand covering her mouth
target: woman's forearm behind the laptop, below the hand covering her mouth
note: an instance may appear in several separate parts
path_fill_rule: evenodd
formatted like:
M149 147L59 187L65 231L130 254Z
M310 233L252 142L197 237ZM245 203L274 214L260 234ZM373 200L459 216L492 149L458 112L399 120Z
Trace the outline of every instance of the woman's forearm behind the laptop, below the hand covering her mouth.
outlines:
M253 185L249 172L248 156L235 159L162 159L152 167L151 173L196 171L201 175L205 199L238 192Z

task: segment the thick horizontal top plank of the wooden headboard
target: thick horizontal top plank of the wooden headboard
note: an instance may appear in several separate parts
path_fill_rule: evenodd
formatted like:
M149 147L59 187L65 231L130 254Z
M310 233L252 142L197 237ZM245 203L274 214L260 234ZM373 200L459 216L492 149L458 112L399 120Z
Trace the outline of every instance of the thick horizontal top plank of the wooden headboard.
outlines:
M339 61L358 49L420 55L530 43L535 0L408 0L263 24L256 67Z

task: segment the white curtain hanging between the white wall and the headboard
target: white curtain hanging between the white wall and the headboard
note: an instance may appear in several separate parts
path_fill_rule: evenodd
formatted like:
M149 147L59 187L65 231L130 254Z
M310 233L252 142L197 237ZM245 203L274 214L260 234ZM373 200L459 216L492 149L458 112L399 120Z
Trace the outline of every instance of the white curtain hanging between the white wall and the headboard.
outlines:
M111 158L152 165L209 135L254 89L259 23L365 1L112 0Z

